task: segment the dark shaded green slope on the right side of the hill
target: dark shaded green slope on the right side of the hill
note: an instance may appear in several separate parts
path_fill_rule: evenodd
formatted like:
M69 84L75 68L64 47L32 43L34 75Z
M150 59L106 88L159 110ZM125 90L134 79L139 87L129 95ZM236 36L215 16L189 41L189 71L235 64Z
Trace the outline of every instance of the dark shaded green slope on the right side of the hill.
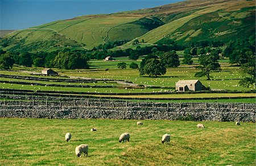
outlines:
M251 9L252 7L249 7L225 15L220 15L221 11L219 11L198 16L170 34L170 38L179 42L199 40L228 42L234 38L246 38L255 32L255 9ZM179 36L180 32L185 35Z

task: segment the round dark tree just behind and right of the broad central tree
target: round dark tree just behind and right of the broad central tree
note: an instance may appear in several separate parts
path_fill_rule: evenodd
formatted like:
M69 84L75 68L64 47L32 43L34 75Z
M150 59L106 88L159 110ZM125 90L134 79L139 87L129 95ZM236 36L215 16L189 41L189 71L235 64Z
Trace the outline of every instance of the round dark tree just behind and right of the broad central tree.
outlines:
M166 67L178 67L180 65L179 56L176 51L165 52L160 58L161 63Z

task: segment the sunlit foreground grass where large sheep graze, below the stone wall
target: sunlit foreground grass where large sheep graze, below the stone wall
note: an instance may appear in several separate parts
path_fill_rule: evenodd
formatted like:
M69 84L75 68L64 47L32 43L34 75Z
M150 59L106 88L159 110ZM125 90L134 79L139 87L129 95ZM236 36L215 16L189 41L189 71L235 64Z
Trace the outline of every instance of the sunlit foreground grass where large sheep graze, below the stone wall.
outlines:
M1 165L255 165L255 123L0 118ZM97 132L90 132L90 128ZM70 142L64 135L71 132ZM129 143L119 143L123 132ZM171 134L170 145L162 144ZM75 147L88 144L88 157Z

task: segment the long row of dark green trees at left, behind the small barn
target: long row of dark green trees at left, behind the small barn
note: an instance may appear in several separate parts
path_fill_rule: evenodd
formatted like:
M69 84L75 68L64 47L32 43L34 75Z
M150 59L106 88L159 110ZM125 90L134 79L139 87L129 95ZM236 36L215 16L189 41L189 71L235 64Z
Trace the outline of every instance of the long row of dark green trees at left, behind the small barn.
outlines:
M89 55L85 52L64 50L61 52L4 52L0 49L0 68L10 69L13 64L25 67L60 69L88 69Z

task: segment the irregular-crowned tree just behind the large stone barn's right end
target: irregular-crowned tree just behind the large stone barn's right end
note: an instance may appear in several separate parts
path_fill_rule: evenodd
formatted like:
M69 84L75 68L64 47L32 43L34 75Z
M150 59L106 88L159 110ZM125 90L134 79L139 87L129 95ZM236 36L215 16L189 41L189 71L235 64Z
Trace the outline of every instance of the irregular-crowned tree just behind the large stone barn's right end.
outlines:
M220 70L220 64L218 63L218 54L210 53L210 55L203 54L199 57L200 66L196 67L201 69L200 72L195 74L196 77L207 76L207 80L210 80L210 72L213 70Z

